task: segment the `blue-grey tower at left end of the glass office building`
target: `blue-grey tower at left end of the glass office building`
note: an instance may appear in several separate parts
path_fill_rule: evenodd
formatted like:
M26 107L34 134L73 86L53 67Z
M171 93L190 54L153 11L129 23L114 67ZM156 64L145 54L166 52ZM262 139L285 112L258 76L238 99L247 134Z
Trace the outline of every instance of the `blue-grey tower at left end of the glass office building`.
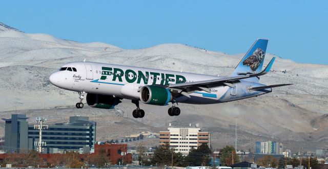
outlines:
M5 151L10 153L26 153L28 119L25 114L12 114L11 119L5 120Z

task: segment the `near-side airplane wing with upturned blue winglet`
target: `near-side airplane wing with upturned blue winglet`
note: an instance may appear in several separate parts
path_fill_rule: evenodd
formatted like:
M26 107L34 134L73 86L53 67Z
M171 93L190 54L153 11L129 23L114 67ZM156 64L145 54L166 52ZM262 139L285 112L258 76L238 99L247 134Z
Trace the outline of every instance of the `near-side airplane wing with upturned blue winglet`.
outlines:
M170 89L173 94L177 93L190 98L189 94L194 93L196 91L206 91L211 93L209 88L215 88L220 86L229 86L231 88L234 88L233 83L238 83L241 79L258 77L269 73L274 61L275 57L271 59L268 66L260 73L251 74L250 72L247 72L247 74L241 76L224 77L212 80L202 80L186 83L176 83L169 85L168 89Z

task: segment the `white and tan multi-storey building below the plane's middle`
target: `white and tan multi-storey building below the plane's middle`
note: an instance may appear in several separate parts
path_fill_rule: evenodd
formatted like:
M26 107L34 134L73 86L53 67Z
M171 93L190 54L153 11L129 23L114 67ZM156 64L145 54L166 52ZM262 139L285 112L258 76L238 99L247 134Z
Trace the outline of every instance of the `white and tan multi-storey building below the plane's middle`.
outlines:
M159 144L170 144L175 152L188 154L191 149L197 149L202 143L210 146L211 134L200 128L168 128L169 131L159 132Z

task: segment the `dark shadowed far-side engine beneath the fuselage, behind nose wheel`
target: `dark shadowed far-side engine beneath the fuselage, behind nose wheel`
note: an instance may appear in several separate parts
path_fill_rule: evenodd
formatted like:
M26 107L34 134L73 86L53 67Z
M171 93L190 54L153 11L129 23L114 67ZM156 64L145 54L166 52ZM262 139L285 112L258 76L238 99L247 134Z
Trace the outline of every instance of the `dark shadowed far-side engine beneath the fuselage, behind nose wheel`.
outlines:
M100 94L87 94L87 103L92 108L114 109L115 105L121 101L117 97Z

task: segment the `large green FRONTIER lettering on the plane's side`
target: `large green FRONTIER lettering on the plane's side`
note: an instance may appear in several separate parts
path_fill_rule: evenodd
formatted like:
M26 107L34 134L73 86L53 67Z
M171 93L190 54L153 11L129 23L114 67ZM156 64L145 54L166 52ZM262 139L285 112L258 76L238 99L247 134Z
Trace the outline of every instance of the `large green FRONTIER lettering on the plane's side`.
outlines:
M127 69L123 71L119 68L102 67L100 80L112 79L112 81L122 82L123 78L129 83L144 83L152 81L152 85L169 85L174 83L186 82L186 77L182 75L174 75L158 72L142 72Z

